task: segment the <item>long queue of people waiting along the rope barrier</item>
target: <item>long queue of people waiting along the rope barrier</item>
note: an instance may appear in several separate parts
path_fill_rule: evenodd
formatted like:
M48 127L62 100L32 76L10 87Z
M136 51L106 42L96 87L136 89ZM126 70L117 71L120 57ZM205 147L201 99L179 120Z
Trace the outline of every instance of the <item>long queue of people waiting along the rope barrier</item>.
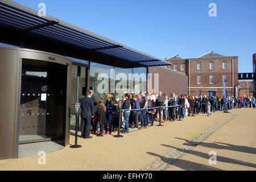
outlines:
M98 137L118 131L120 109L118 101L118 97L113 98L113 95L108 93L104 103L103 98L97 100L92 90L86 91L86 97L80 100L81 137L92 138L89 136L91 126L92 133ZM185 118L199 113L210 116L212 112L243 107L255 108L255 98L206 95L194 97L186 94L179 97L174 92L169 97L162 92L159 94L140 92L139 96L136 93L126 93L122 96L122 133L129 133L129 128L142 130L154 127L154 122L159 121L160 117L163 117L163 123L166 123L174 122L178 117ZM139 122L141 122L140 127Z

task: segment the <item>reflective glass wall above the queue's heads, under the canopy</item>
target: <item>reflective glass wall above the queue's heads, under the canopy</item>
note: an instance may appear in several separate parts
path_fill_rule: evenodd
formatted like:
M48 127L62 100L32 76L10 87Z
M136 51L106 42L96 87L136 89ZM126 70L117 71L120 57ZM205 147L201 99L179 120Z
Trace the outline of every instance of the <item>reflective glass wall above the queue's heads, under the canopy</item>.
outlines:
M147 68L118 68L90 62L90 89L97 98L106 93L121 99L122 94L146 92Z

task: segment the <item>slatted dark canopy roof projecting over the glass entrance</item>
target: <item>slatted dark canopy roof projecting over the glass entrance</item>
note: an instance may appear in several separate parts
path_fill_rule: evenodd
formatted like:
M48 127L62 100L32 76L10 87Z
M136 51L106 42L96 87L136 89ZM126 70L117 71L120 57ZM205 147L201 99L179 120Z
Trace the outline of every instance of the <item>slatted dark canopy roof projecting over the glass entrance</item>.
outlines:
M130 61L131 64L139 63L145 67L171 65L167 61L73 26L52 16L40 17L38 11L13 1L1 0L0 8L0 24L16 28L20 32L26 32L26 34L38 34L85 48L94 53L119 57Z

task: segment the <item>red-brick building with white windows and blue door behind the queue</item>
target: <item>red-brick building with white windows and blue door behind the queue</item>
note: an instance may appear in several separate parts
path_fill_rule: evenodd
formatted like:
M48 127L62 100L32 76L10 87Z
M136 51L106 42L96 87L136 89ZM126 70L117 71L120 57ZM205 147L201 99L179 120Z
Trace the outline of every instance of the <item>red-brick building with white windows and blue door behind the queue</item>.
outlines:
M236 96L238 86L238 56L224 56L208 52L205 55L184 59L179 55L165 59L167 66L188 76L188 94L191 96L222 96L223 82L226 82L228 96Z

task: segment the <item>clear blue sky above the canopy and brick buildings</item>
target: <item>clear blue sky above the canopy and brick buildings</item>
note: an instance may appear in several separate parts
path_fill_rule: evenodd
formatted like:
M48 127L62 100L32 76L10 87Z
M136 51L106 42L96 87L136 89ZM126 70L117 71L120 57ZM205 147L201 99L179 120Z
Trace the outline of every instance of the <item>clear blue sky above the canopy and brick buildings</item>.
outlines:
M164 59L214 51L238 56L238 72L252 72L256 53L255 0L14 0L126 46ZM216 3L217 17L210 17Z

